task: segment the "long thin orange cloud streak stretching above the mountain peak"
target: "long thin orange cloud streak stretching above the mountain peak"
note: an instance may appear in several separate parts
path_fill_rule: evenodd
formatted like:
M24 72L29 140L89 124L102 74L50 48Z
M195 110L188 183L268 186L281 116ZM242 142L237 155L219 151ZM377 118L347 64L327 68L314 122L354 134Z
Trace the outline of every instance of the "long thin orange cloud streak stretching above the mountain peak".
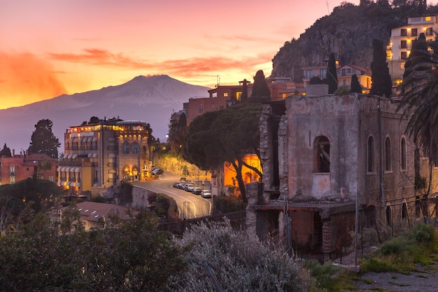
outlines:
M195 77L205 74L218 74L226 70L257 71L257 65L271 62L271 53L253 57L232 59L228 57L193 57L183 60L167 60L152 62L128 57L122 53L111 53L108 50L88 48L83 53L50 53L52 60L92 64L97 66L123 67L125 69L141 69L153 71L156 74L172 76ZM254 74L255 74L254 71Z

